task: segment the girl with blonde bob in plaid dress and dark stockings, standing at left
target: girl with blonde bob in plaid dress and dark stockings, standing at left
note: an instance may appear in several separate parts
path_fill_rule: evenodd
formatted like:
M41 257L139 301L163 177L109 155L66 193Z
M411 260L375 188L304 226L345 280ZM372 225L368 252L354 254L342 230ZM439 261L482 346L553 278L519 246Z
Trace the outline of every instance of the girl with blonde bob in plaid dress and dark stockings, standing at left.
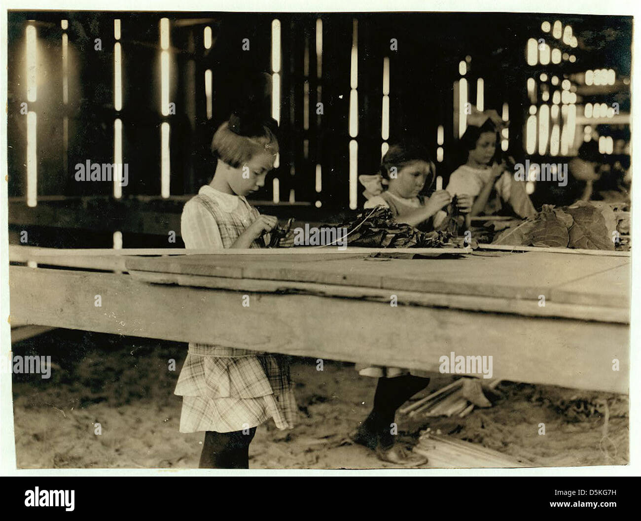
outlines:
M274 166L276 122L232 115L213 136L209 185L185 204L181 233L192 249L261 248L278 223L245 199ZM291 245L292 238L281 239ZM242 312L242 311L239 311ZM229 345L190 343L175 393L183 397L181 433L205 431L201 468L249 468L256 427L272 418L291 429L296 413L287 358Z

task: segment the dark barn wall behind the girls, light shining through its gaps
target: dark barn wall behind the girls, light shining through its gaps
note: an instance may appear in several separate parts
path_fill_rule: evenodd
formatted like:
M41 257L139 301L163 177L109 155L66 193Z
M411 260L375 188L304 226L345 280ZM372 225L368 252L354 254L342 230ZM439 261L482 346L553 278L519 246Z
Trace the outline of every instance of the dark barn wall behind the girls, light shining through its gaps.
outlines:
M542 30L542 23L553 21L570 27L570 35L564 29L563 37L555 38L556 28ZM31 43L29 28L35 29ZM212 178L213 131L249 97L263 97L263 110L273 115L276 76L278 167L254 198L261 211L279 218L320 221L362 206L356 174L376 172L381 145L403 135L428 145L447 181L460 163L462 78L472 105L476 101L477 107L480 103L509 117L504 147L517 160L526 153L529 105L544 103L546 91L552 101L553 75L560 78L556 89L569 79L568 90L576 95L569 92L567 100L564 94L563 106L578 109L574 140L567 151L557 149L554 160L576 154L590 122L593 138L613 138L616 146L608 160L625 170L630 37L630 18L603 16L10 12L10 240L17 242L26 229L30 245L111 247L113 233L120 231L124 247L166 246L169 231L179 235L185 200ZM547 40L548 54L558 47L559 63L553 55L529 65L532 38ZM585 71L603 68L615 74L612 85L586 85ZM270 77L269 83L257 83L260 73ZM540 81L541 74L547 83ZM536 92L528 90L528 78L536 78ZM32 94L29 81L36 85ZM174 104L170 110L162 108L163 88L165 101ZM350 106L353 97L357 116ZM585 104L597 102L618 103L618 115L594 121L581 117ZM30 117L35 127L31 156ZM128 185L117 196L108 182L74 179L76 163L116 162L116 121L120 162L129 169ZM543 152L550 160L551 149Z

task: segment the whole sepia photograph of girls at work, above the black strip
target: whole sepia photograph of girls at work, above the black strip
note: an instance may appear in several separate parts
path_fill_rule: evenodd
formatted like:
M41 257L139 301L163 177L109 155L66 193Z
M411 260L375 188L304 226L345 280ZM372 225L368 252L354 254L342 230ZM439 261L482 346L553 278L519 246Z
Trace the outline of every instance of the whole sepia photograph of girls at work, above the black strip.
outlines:
M522 7L7 10L14 469L629 466L633 17Z

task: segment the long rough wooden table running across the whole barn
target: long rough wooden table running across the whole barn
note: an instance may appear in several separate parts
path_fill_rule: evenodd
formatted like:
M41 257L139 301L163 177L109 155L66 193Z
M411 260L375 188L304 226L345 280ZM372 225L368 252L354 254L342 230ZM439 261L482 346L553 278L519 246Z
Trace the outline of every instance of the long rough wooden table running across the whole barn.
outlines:
M628 392L628 256L37 250L10 248L40 262L10 267L24 324L433 371L451 352L491 355L493 378Z

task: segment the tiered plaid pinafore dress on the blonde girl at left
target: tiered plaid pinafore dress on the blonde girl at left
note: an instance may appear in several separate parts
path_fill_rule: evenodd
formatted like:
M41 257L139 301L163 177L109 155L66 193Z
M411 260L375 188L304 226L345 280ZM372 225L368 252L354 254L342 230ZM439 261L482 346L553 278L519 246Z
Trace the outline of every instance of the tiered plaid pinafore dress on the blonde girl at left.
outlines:
M225 211L210 197L192 201L212 213L225 248L260 215L239 197L238 206L249 206L249 222L237 211ZM255 240L253 248L264 247ZM279 354L237 349L228 345L190 343L174 393L183 397L180 432L241 431L274 419L279 429L291 429L296 401L290 381L288 358Z

